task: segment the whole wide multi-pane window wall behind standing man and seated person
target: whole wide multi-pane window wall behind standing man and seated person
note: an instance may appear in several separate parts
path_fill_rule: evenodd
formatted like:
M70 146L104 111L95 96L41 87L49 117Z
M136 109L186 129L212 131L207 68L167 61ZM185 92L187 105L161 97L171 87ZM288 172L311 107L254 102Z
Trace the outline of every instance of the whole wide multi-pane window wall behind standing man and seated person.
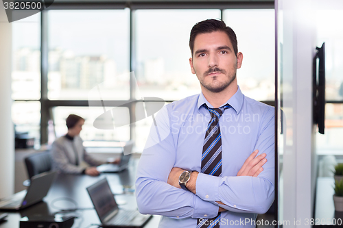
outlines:
M108 146L108 142L133 138L138 150L143 149L152 116L134 121L142 114L135 101L157 97L169 102L200 92L189 66L189 34L193 25L207 18L222 18L237 34L239 51L244 53L237 79L244 94L274 101L274 10L175 6L169 10L86 10L81 4L80 10L70 10L66 3L65 10L50 8L23 19L25 23L14 23L15 110L25 109L34 100L42 104L29 109L38 114L40 123L26 115L20 117L25 127L19 127L23 120L16 117L17 128L39 138L40 124L42 142L51 142L67 132L65 118L73 113L86 118L82 131L86 145ZM40 50L47 59L40 60ZM42 73L40 62L47 63ZM95 119L108 110L126 116L125 124L113 130L96 129Z

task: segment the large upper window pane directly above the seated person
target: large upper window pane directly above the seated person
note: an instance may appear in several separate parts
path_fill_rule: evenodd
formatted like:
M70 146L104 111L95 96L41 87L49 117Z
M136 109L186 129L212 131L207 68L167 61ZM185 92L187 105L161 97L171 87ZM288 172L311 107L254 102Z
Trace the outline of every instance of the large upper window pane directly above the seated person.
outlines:
M130 99L130 10L49 10L48 97L86 100L106 81L103 99Z

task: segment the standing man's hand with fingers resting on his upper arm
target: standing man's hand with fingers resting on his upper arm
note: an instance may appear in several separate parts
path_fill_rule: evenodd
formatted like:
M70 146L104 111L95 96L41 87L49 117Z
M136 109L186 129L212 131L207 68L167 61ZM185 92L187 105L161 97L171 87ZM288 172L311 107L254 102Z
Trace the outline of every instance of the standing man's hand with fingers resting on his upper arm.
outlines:
M238 176L250 176L250 177L257 177L262 171L262 166L267 162L265 158L266 154L262 153L261 155L257 155L259 150L256 150L251 153L251 155L247 158L246 162L244 162L243 166L237 173Z

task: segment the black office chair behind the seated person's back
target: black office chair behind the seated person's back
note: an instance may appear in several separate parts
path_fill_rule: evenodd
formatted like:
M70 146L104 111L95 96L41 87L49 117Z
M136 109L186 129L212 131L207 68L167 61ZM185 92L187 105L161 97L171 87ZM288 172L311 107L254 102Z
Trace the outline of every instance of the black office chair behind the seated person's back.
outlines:
M33 153L25 157L25 164L29 179L31 179L31 177L34 175L50 171L52 168L50 151ZM29 179L23 182L24 186L29 186Z

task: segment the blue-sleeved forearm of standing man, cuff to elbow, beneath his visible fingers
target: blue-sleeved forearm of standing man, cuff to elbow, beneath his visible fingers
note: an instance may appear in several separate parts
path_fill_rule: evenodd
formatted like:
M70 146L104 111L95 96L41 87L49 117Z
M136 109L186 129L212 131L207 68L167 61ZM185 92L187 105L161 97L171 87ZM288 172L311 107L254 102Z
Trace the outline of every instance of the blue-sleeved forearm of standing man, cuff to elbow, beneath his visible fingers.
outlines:
M198 175L197 195L228 211L264 214L274 201L274 185L267 179L248 176L207 179L205 176L209 175ZM211 189L206 188L209 186Z

